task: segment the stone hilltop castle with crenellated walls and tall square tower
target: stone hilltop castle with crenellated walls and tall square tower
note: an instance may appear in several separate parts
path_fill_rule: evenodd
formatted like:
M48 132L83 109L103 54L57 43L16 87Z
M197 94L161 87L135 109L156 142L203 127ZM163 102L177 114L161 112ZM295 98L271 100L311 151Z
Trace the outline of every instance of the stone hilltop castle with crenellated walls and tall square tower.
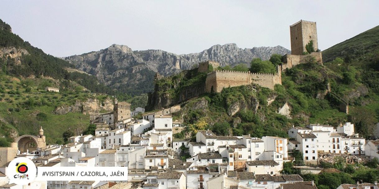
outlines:
M291 54L282 57L282 65L276 67L276 73L250 73L250 71L216 70L219 63L204 61L199 63L199 72L209 73L205 81L205 92L221 92L225 87L258 84L262 87L274 89L276 84L282 84L282 70L292 68L299 64L315 59L318 64L323 64L321 51L318 49L316 22L300 20L290 26ZM307 52L306 45L312 40L313 50Z

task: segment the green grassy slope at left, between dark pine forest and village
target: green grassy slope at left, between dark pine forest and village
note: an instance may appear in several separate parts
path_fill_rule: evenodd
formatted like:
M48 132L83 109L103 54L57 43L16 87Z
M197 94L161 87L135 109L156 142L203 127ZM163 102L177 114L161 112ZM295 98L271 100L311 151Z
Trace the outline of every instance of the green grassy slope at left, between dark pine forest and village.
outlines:
M25 84L27 83L27 84ZM53 114L55 107L72 105L75 101L85 101L95 98L91 93L63 90L61 93L52 93L42 90L44 85L57 87L50 79L20 79L0 74L2 95L0 100L0 137L6 137L12 142L10 133L15 131L19 135L36 135L42 126L48 144L63 143L62 134L66 130L80 133L89 124L89 115L82 113L67 113L66 115ZM59 85L58 85L59 86ZM26 88L30 91L26 92ZM96 95L102 100L106 95ZM38 113L44 113L45 118L38 118Z

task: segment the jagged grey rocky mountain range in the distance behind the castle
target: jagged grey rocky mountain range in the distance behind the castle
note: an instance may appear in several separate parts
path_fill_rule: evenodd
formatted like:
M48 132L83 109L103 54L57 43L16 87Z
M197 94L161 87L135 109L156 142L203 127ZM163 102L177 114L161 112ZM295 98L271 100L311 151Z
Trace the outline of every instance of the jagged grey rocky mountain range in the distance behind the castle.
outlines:
M139 93L153 90L156 72L168 76L191 69L204 60L215 60L224 65L249 63L253 58L269 59L271 54L286 54L282 46L238 48L235 43L214 45L200 53L174 54L162 50L132 51L125 45L110 47L64 58L79 70L96 75L100 82L124 92L141 89Z

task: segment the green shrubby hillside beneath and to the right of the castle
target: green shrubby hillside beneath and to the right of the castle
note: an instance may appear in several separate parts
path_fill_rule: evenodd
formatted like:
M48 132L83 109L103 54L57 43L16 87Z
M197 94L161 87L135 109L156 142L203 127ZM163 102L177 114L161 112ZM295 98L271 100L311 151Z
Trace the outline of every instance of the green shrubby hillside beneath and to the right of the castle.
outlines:
M181 112L175 113L174 118L188 127L177 137L191 138L198 129L211 129L219 135L288 137L287 130L293 125L336 126L351 121L356 132L371 138L379 120L378 36L379 27L375 27L323 51L324 65L311 61L286 70L282 73L282 85L276 85L275 90L254 85L232 87L183 102ZM201 80L201 74L194 72L191 71L191 78ZM155 98L175 102L184 87L191 87L183 75L159 80ZM201 82L205 79L192 87ZM326 94L328 85L330 94ZM286 102L291 108L289 116L278 113ZM349 114L340 111L341 102L349 104ZM231 115L233 108L239 110Z

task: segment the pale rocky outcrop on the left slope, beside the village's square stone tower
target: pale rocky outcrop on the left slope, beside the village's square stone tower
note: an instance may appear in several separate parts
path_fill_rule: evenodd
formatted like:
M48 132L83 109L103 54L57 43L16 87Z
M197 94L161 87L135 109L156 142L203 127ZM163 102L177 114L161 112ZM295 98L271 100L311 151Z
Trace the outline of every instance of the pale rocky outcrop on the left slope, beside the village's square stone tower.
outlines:
M103 102L100 102L96 98L89 98L86 101L77 100L74 105L60 106L55 108L53 113L64 115L70 112L81 112L83 114L91 115L98 114L102 111L113 111L112 99L106 98Z

